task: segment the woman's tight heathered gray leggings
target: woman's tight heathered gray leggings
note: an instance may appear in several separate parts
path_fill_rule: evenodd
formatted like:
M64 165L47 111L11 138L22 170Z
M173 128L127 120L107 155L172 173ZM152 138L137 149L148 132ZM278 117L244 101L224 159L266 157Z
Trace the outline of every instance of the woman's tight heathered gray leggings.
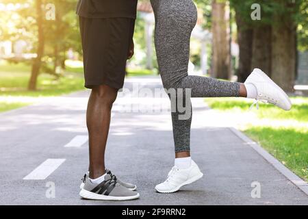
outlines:
M155 14L157 62L164 88L189 88L192 97L238 96L240 83L188 75L190 35L197 19L193 1L151 0L151 4ZM188 101L185 104L191 105ZM178 109L171 114L175 152L190 151L192 117L179 119Z

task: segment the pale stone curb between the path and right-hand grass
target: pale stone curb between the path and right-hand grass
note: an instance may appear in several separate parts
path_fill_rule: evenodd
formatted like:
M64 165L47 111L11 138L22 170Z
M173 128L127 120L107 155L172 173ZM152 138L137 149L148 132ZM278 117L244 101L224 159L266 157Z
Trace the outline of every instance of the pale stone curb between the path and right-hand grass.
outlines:
M264 150L257 142L254 142L250 138L248 138L244 133L239 131L238 129L235 129L234 127L229 128L236 136L238 136L240 139L242 139L246 144L251 146L259 155L264 157L274 168L276 168L281 174L283 174L287 179L292 181L294 185L296 185L300 190L305 192L305 194L308 195L308 183L306 181L303 181L300 177L294 174L291 170L289 170L287 167L285 167L281 162L279 162L278 159L270 155L266 150Z

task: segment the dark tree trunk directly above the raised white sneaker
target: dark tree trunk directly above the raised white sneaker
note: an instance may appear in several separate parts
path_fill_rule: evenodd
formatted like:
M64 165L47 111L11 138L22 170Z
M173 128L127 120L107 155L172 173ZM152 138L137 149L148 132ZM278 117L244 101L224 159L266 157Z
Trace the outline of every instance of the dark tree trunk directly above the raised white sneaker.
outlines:
M260 68L269 77L271 75L272 27L260 25L253 29L253 57L251 70Z

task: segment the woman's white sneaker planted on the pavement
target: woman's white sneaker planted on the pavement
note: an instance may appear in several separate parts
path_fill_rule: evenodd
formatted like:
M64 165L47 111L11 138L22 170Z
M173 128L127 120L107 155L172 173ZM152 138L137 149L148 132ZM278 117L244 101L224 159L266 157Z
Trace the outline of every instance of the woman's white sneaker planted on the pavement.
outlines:
M168 173L168 179L164 183L156 185L155 190L162 193L177 192L183 185L193 183L201 177L203 177L203 173L194 161L187 169L179 169L174 166Z

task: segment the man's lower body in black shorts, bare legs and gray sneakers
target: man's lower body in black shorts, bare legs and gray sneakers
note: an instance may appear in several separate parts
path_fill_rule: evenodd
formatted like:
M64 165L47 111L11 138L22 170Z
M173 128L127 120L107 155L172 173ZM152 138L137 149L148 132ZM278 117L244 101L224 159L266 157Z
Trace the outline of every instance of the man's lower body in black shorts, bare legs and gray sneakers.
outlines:
M91 88L87 110L89 172L79 195L94 200L124 201L139 197L136 185L120 181L105 170L105 147L112 104L123 87L125 64L133 38L131 18L79 17L84 51L85 87ZM132 54L131 54L132 55Z

